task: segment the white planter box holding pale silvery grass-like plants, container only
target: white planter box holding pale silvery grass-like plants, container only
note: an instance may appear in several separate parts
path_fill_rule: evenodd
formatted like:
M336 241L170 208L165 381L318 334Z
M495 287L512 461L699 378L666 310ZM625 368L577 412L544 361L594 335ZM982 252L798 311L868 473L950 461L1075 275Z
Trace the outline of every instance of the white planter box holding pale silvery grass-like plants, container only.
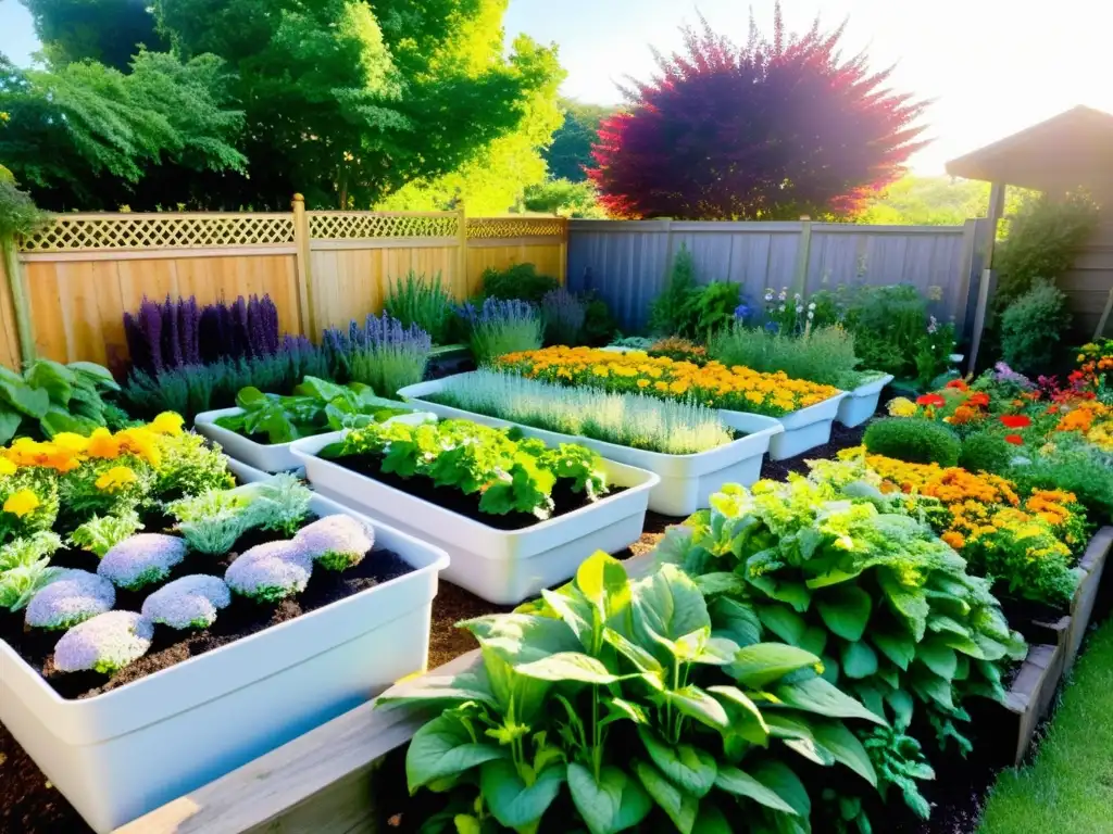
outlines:
M464 375L466 376L466 375ZM633 449L604 440L595 440L579 435L564 435L534 428L520 423L464 411L426 399L445 388L444 380L411 385L398 391L398 396L414 400L423 410L442 417L474 420L486 426L516 426L528 437L536 437L546 444L575 443L594 449L608 460L636 466L660 477L660 483L650 490L649 508L667 516L689 516L697 509L710 506L708 498L723 484L750 486L761 474L761 458L769 449L772 438L784 431L780 423L772 417L739 411L722 411L722 418L731 428L747 433L746 437L698 455L664 455L659 451Z

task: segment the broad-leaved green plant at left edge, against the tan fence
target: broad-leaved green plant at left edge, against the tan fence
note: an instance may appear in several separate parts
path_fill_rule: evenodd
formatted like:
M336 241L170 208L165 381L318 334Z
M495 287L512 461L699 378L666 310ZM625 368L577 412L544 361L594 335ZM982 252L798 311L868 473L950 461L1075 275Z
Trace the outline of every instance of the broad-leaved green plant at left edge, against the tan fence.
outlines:
M96 428L118 427L127 416L104 396L119 389L108 369L93 363L36 359L22 374L0 367L0 445L17 435L88 436Z

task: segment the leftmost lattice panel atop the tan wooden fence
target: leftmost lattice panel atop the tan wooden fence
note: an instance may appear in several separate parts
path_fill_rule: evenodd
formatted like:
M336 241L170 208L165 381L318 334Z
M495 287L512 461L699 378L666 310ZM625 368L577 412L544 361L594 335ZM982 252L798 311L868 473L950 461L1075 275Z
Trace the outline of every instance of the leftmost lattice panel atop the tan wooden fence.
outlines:
M41 231L24 238L20 248L24 252L68 252L293 242L293 215L61 215Z

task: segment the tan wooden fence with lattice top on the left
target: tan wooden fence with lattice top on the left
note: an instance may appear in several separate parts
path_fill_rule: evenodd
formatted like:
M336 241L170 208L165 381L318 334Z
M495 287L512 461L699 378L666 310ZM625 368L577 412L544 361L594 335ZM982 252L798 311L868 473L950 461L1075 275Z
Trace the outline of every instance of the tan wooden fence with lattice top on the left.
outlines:
M267 292L285 331L316 339L378 312L410 270L440 274L463 299L487 267L529 261L563 280L565 247L567 221L555 217L307 211L299 196L289 212L59 215L9 259L0 363L41 356L118 367L124 312L144 296L210 304Z

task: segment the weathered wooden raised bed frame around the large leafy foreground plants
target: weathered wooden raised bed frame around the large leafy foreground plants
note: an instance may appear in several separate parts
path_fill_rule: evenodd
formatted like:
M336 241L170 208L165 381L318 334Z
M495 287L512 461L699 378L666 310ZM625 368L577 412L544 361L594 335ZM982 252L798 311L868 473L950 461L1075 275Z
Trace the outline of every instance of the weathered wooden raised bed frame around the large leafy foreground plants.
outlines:
M1016 716L1014 764L1020 765L1041 721L1051 712L1063 675L1085 636L1110 553L1113 526L1091 539L1066 623L1056 623L1055 645L1028 649L1005 708ZM651 554L628 559L631 576L644 574ZM469 652L435 669L453 675L479 663ZM378 763L413 736L424 717L374 711L364 704L205 787L152 811L116 834L377 834L374 777Z

